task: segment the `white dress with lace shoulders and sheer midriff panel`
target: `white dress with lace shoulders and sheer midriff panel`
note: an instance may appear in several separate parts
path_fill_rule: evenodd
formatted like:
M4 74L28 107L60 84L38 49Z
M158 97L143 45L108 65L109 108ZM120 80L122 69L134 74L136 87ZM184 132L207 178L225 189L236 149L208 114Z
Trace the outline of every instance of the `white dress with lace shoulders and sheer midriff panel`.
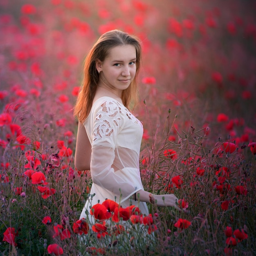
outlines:
M139 170L141 122L119 101L101 97L92 105L83 125L92 145L90 195L95 195L86 201L80 219L87 218L90 206L106 199L128 207L130 197L144 190ZM148 215L145 202L132 200L132 204Z

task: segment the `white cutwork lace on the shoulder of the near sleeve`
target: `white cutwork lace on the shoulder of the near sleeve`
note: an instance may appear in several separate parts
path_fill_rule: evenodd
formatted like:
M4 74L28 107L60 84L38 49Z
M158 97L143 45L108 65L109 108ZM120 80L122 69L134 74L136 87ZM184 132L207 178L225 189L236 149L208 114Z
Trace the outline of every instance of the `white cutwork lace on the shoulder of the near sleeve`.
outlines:
M94 140L98 138L103 138L104 136L109 137L115 130L116 126L119 126L119 113L121 113L121 108L117 106L114 102L104 102L101 104L102 111L96 115L97 128L94 132Z

